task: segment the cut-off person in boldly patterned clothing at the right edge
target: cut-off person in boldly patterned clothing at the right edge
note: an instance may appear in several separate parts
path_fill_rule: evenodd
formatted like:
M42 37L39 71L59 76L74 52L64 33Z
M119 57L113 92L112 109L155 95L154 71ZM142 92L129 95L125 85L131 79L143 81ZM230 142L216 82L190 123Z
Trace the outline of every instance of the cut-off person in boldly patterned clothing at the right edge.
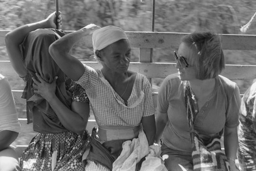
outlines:
M238 125L238 161L243 171L256 170L256 80L242 98Z

